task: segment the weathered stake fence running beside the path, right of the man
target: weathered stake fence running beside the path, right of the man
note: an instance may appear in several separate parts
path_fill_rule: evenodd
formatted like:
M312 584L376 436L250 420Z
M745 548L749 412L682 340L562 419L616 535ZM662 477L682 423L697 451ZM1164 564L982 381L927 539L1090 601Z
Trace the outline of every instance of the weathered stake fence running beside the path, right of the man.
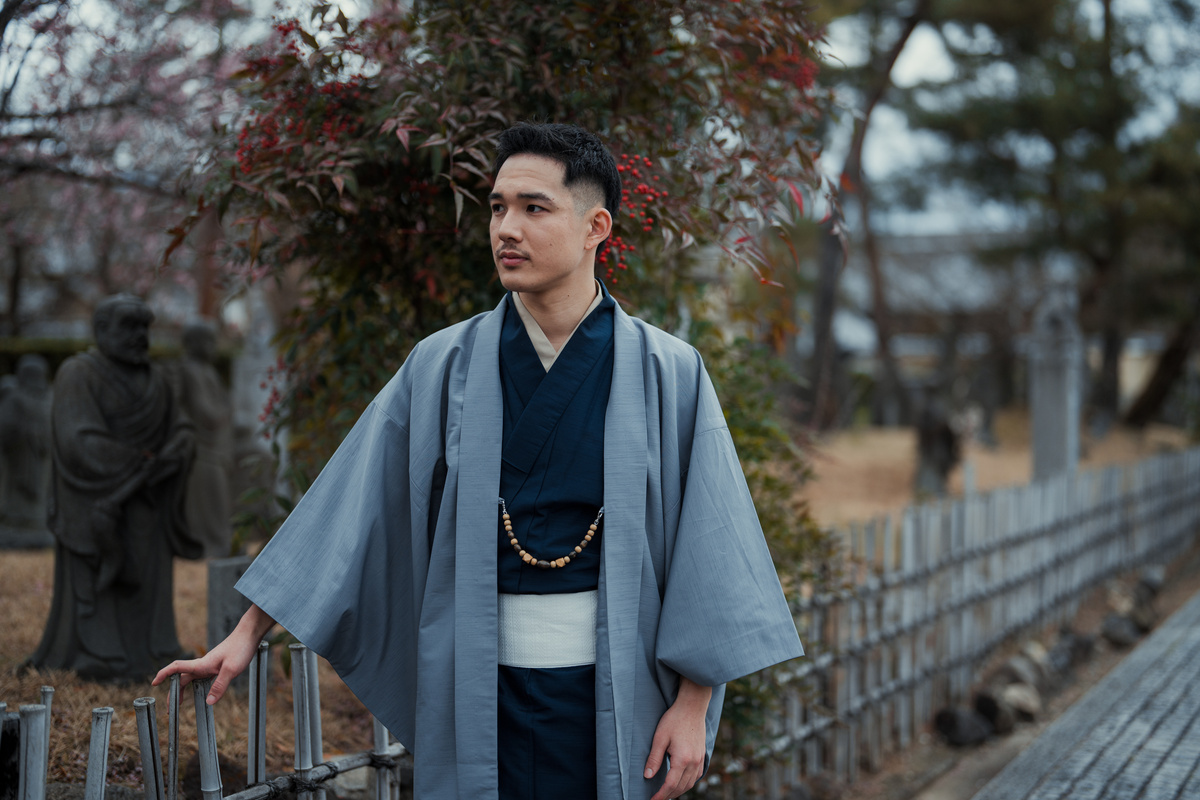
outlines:
M1166 564L1198 533L1200 449L851 525L848 585L793 603L808 657L773 674L780 712L757 769L710 770L703 792L853 782L967 702L1003 643L1067 621L1090 589Z

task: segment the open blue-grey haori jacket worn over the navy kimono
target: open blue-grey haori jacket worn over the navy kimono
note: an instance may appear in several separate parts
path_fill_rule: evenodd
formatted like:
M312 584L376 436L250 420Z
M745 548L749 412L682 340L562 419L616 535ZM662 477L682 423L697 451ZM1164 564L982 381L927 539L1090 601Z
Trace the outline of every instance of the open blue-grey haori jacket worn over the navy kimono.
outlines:
M497 798L503 314L413 350L238 584L413 751L422 799ZM712 757L724 684L803 649L700 354L614 323L596 766L640 800L679 675L715 687Z

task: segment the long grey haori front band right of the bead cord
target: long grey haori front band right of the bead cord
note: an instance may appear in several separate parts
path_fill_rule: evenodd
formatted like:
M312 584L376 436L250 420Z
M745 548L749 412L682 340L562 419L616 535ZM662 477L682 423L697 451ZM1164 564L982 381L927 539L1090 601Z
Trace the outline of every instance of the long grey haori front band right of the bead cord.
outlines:
M637 622L641 603L642 559L646 558L646 380L641 342L634 324L618 305L613 314L613 368L608 410L605 415L604 497L605 528L601 547L601 627L598 642L598 691L608 673L617 733L617 759L624 793L641 781L641 765L631 762L634 693L637 682ZM599 633L598 632L598 633ZM605 670L607 667L607 670ZM598 696L596 706L604 700ZM601 733L602 735L602 733ZM635 775L636 772L636 775Z

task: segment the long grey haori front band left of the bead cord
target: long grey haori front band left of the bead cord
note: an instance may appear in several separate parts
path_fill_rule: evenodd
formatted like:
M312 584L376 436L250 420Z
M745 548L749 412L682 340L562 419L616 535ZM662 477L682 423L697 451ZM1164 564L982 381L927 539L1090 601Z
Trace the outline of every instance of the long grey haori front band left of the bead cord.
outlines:
M479 326L463 389L455 536L454 722L458 794L496 798L496 519L504 303ZM482 724L480 723L482 721ZM491 722L488 722L491 721Z

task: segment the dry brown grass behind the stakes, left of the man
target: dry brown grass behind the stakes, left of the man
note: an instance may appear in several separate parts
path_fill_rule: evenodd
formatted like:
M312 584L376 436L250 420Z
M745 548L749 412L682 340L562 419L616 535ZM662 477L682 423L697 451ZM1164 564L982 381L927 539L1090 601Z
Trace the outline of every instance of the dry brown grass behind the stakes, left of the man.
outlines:
M6 620L0 637L0 702L10 710L19 704L40 702L40 688L55 688L50 735L49 780L82 783L86 776L91 709L110 705L113 729L109 747L109 781L140 786L142 769L133 700L156 699L158 732L166 753L166 686L114 686L82 681L72 673L29 670L18 667L36 649L50 609L54 555L50 551L0 551L0 619ZM175 563L175 618L185 649L203 652L206 614L206 570L203 563ZM371 716L358 698L322 662L320 688L325 756L371 747ZM180 703L181 763L196 752L196 723L191 690ZM266 702L268 771L292 765L292 685L280 664L278 649L271 652L271 684ZM245 696L229 694L216 705L217 750L234 764L246 763L247 708ZM234 787L240 788L240 787Z

